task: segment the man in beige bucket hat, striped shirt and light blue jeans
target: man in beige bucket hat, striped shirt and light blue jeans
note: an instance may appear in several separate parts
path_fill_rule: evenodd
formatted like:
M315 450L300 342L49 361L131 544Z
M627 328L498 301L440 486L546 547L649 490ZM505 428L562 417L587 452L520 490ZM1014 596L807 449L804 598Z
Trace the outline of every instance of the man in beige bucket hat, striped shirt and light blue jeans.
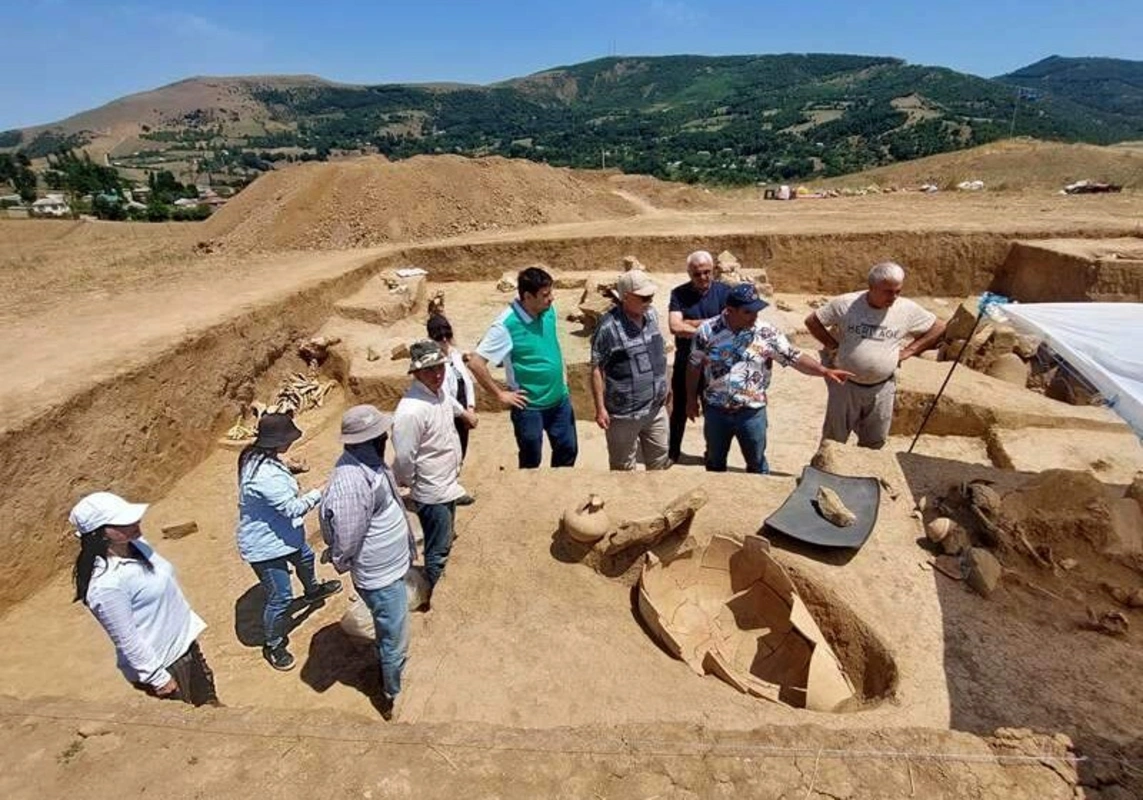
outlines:
M385 465L393 417L374 406L354 406L342 416L341 458L321 497L321 538L338 573L350 573L369 608L381 663L382 706L392 718L401 691L409 647L405 574L416 554L413 528L397 479Z

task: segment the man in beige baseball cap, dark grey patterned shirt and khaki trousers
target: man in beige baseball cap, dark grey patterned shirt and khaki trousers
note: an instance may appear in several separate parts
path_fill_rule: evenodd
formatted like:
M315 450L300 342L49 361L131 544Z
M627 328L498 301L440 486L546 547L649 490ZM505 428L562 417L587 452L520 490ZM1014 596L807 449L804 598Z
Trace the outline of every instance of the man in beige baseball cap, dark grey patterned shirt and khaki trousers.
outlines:
M666 346L652 307L657 287L642 270L620 275L620 304L604 314L591 339L591 395L596 424L607 434L613 470L665 470L670 424Z

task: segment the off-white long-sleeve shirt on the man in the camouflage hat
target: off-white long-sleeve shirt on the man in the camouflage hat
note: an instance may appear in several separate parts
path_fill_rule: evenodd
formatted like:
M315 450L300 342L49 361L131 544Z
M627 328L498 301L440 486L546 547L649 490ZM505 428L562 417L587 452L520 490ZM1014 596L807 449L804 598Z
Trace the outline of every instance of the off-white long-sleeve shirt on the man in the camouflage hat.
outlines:
M417 503L450 503L464 495L455 399L414 378L393 415L393 473Z

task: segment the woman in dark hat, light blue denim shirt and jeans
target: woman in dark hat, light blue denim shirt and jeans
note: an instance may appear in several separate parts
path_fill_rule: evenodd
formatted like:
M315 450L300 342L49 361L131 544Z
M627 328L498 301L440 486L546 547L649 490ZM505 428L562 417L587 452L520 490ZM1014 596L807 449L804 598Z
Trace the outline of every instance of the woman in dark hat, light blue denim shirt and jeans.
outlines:
M264 414L257 439L238 457L238 551L265 590L262 656L281 671L294 669L294 656L286 649L286 611L294 600L290 566L305 590L306 603L342 591L341 581L318 583L313 550L305 541L302 518L318 506L321 491L299 494L297 480L279 458L301 437L288 414Z

